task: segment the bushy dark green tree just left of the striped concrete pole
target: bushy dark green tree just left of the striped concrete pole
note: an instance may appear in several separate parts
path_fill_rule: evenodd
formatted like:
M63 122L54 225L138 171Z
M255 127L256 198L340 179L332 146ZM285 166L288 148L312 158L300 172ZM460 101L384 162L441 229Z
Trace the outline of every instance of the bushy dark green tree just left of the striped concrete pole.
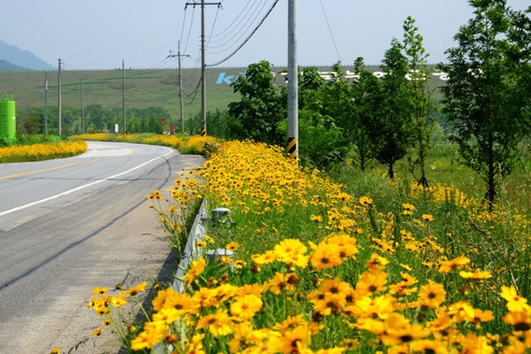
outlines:
M286 119L287 107L282 104L281 92L274 83L271 64L266 60L248 66L245 75L231 84L241 101L228 104L232 119L230 134L238 139L281 145L286 140L279 130Z

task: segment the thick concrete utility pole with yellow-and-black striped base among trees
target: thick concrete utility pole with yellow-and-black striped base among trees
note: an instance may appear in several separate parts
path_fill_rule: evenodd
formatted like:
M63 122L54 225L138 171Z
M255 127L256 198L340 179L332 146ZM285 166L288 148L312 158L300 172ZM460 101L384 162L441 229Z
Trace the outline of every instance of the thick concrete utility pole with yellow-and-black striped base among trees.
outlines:
M296 0L288 0L288 156L298 160L298 70Z

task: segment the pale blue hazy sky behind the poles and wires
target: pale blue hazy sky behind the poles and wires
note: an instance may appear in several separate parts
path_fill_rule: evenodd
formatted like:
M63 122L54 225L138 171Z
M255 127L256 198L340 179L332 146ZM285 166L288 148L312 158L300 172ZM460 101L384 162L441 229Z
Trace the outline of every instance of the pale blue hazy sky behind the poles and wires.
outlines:
M188 1L189 4L193 0ZM201 3L196 0L196 3ZM205 3L214 3L206 0ZM258 26L274 0L221 0L205 6L207 64L227 58ZM508 0L523 10L529 0ZM13 0L2 5L0 40L65 69L183 67L201 64L201 9L186 0ZM391 39L402 40L404 20L416 19L429 62L445 60L453 36L472 17L466 0L298 0L298 64L377 65ZM288 1L279 0L241 50L219 66L267 60L288 64ZM172 52L170 51L172 50Z

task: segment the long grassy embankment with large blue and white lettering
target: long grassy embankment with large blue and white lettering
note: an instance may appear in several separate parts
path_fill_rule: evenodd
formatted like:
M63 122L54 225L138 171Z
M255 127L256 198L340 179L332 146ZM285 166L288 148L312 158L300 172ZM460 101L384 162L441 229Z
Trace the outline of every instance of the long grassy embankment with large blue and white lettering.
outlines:
M379 71L378 66L368 67L373 72ZM284 84L281 74L285 68L273 68L277 85ZM319 67L325 78L330 67ZM352 67L343 67L346 77L350 77ZM227 104L240 100L230 83L245 73L246 68L208 68L206 70L206 105L207 110L227 110ZM182 70L182 87L184 93L185 117L201 112L200 69ZM441 85L440 75L435 73L433 85ZM102 104L106 108L122 106L122 85L125 82L126 107L147 108L163 107L170 112L173 119L180 118L180 99L178 86L179 73L175 69L153 69L125 71L122 81L122 70L98 71L61 71L62 105L81 108L81 86L83 105ZM0 96L7 94L13 97L17 111L28 107L43 107L45 96L45 72L43 71L11 71L0 72ZM58 71L48 72L48 106L58 106Z

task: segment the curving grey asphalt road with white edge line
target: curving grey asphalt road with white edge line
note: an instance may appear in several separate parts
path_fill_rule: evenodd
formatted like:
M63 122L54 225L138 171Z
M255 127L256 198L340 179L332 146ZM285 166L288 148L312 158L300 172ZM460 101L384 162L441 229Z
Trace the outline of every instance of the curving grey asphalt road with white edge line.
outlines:
M89 142L76 158L0 164L0 353L68 352L100 327L91 291L174 270L146 198L204 158ZM110 331L76 353L116 353Z

